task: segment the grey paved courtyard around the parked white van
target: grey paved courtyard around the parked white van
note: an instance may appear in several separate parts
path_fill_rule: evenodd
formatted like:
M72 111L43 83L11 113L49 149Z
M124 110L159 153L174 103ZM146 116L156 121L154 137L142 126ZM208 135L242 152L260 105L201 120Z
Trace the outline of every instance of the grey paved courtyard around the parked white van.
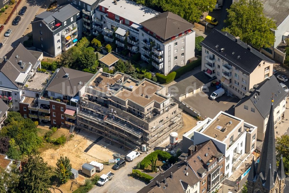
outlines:
M187 97L183 101L195 110L199 111L203 118L214 118L220 111L234 115L233 106L238 103L239 99L235 97L228 97L226 94L224 94L224 96L213 101L209 99L209 97L215 90L216 87L209 87L209 89L200 91L190 97Z

